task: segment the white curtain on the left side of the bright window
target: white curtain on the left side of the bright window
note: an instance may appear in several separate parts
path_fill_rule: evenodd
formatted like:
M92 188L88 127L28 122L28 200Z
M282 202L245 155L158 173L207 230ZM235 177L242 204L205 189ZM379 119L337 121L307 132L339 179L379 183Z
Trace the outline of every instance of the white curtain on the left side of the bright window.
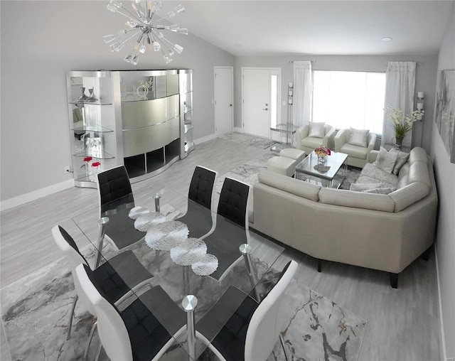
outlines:
M292 124L299 127L311 121L313 105L313 72L311 61L294 61L294 99Z

